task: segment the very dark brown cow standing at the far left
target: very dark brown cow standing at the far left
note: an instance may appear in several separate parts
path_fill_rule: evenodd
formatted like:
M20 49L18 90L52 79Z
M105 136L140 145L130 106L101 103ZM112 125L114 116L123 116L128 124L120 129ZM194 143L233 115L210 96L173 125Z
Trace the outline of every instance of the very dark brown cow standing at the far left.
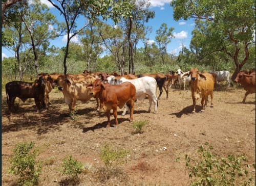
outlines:
M45 79L39 77L34 82L13 81L5 86L8 114L14 111L15 98L25 102L28 98L34 98L37 112L42 108L45 97Z

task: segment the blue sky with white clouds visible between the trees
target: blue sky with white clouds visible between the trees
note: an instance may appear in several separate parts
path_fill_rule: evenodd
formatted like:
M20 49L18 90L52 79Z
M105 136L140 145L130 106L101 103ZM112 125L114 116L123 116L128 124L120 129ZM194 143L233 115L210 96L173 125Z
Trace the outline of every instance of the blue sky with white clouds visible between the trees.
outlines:
M168 28L173 27L173 35L175 38L171 39L171 42L167 45L167 52L170 54L178 55L182 48L182 43L187 48L191 40L191 32L194 29L194 20L179 20L175 21L173 18L173 8L170 6L170 0L148 0L151 3L150 10L155 11L155 18L150 19L146 25L152 27L152 32L148 35L148 43L155 42L156 31L160 28L162 23L166 23ZM54 8L47 0L41 0L50 8L50 11L57 17L59 21L63 21L59 11ZM79 21L80 22L80 21ZM84 24L84 21L81 21ZM82 25L81 25L82 26ZM79 28L79 24L78 24ZM73 42L78 42L78 37L72 38ZM60 36L55 40L50 41L50 46L55 45L56 47L66 46L67 35ZM141 45L142 46L142 45ZM140 47L138 45L137 47ZM6 57L14 57L14 51L9 50L5 47L2 48L2 59Z

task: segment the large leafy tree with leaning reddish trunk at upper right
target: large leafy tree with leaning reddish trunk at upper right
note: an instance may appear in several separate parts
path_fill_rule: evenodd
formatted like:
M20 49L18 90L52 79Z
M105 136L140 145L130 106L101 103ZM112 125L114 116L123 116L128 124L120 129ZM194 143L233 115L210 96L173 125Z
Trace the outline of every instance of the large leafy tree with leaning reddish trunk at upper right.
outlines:
M208 50L225 52L233 60L236 66L231 77L233 80L249 59L249 47L255 43L253 0L174 0L170 5L174 8L175 20L193 18L205 22ZM202 21L197 23L203 24ZM199 44L203 49L203 44ZM244 57L239 60L240 56Z

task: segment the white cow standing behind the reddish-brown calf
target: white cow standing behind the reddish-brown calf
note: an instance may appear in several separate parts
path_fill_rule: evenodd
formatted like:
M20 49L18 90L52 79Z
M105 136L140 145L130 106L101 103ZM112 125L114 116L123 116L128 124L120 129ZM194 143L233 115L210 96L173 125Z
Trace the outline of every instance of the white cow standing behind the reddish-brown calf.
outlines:
M151 112L151 105L152 101L155 104L155 110L154 113L157 112L157 96L156 96L156 90L157 90L157 82L156 79L150 76L144 76L139 77L137 79L126 79L124 77L121 77L120 79L116 79L115 76L110 75L108 78L106 78L109 84L112 85L119 85L123 82L130 82L132 83L136 88L136 98L137 99L144 99L145 95L148 96L148 100L150 101L150 107L148 108L148 112ZM127 107L124 107L122 115L125 115Z

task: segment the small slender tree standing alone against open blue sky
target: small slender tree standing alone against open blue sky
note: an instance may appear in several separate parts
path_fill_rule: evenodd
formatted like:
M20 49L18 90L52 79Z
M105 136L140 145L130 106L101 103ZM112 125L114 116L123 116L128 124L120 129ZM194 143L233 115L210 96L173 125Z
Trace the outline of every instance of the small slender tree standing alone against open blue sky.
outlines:
M164 58L167 56L167 44L170 43L170 39L174 37L174 28L168 29L166 23L162 23L160 28L156 31L156 42L160 50L160 57L162 59L162 64L164 64Z

